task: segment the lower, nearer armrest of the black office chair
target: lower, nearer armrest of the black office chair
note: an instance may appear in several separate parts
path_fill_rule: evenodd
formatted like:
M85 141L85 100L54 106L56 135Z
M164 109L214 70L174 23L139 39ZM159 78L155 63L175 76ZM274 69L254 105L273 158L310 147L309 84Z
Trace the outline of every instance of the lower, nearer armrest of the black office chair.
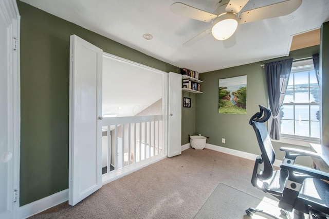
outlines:
M319 178L319 179L325 179L329 180L329 173L320 171L320 170L315 170L312 168L307 168L307 167L302 167L302 166L296 166L296 165L289 165L287 163L284 163L280 165L281 169L285 169L289 171L289 179L293 179L296 182L302 183L304 178L309 178L310 176ZM307 175L296 175L292 174L292 172L297 172L297 173L302 173L302 174L307 174ZM303 178L303 179L301 179Z

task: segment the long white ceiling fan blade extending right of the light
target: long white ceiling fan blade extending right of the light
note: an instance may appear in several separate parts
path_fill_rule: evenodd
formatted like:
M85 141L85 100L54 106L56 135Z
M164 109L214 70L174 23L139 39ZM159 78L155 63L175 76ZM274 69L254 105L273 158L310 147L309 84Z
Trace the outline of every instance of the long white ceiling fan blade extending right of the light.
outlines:
M242 12L239 16L239 24L279 17L293 13L302 4L302 0L288 0L261 8Z

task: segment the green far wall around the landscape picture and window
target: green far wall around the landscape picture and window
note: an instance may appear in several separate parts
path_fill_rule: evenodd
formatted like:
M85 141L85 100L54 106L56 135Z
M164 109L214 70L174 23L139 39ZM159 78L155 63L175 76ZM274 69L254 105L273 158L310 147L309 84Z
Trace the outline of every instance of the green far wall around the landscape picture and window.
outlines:
M196 95L195 107L195 131L209 136L207 143L219 145L234 150L260 154L257 138L252 127L248 124L250 117L259 112L259 104L268 105L265 70L261 64L280 59L294 58L300 59L311 57L319 52L319 46L292 51L289 57L266 60L251 63L248 65L236 66L222 70L216 70L201 74L203 80L203 94ZM247 75L247 114L246 115L226 115L218 114L218 80L235 76ZM226 143L222 143L222 138ZM280 147L297 145L286 145L273 142L277 159L281 159L284 153L279 151ZM312 160L308 157L300 157L297 163L309 166Z

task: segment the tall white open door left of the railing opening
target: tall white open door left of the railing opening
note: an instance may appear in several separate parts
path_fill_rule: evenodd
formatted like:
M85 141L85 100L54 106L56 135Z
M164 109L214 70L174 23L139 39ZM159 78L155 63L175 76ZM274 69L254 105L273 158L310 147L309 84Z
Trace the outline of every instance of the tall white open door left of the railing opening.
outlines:
M69 205L102 186L102 49L70 36Z

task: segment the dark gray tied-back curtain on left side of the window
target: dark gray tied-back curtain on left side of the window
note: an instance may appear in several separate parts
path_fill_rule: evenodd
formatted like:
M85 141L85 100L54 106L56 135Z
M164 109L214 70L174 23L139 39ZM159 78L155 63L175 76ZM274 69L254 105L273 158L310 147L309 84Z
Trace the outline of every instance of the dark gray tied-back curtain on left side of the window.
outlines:
M268 101L273 116L270 137L276 140L280 140L278 115L288 86L292 64L293 59L265 63Z

